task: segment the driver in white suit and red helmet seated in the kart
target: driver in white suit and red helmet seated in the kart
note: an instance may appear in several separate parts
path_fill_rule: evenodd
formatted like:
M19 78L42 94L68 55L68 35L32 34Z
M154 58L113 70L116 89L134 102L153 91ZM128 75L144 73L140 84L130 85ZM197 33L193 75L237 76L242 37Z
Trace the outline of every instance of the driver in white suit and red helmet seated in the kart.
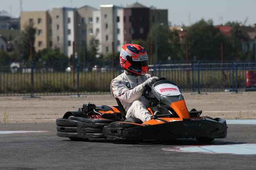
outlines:
M126 118L139 118L143 122L151 119L148 112L149 101L142 96L145 86L152 86L159 80L148 72L148 55L145 48L136 44L126 44L121 48L120 65L125 72L111 81L111 93L123 105Z

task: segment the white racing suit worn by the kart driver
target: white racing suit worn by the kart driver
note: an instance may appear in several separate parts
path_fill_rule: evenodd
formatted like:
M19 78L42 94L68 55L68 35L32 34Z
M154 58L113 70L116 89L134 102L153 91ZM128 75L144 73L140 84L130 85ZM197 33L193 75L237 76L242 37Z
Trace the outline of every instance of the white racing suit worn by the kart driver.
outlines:
M126 118L139 118L143 122L150 120L152 114L148 112L149 102L144 96L142 83L150 78L150 74L144 76L120 74L111 81L111 93L118 98L123 105Z

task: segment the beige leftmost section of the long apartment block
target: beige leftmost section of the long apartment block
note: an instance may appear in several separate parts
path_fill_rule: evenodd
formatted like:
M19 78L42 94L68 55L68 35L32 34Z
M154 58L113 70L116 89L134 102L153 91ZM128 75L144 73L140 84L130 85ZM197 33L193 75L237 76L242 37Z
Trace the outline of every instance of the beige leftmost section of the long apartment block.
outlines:
M34 28L36 28L34 44L36 51L51 47L50 21L50 13L48 11L20 13L21 31L29 24L33 24Z

